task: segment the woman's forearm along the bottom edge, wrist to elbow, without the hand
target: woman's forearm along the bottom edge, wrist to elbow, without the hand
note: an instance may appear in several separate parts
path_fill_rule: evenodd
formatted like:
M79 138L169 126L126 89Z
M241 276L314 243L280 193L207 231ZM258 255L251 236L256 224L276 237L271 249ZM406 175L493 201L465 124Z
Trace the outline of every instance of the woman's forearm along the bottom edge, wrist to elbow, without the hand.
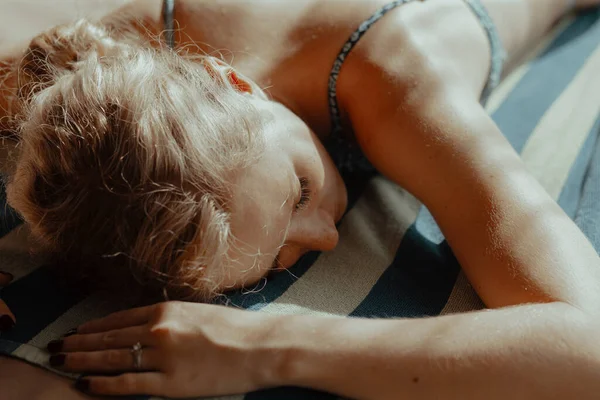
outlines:
M267 341L277 385L359 399L547 399L600 390L598 322L564 303L426 319L290 316ZM267 365L267 364L265 364Z

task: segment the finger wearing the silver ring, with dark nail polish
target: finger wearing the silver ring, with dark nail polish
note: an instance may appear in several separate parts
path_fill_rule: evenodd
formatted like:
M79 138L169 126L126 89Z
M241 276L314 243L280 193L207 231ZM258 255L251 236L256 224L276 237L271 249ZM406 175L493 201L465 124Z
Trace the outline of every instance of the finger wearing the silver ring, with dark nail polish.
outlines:
M50 357L50 366L69 372L158 371L160 357L153 348L142 349L139 368L130 349L60 353Z

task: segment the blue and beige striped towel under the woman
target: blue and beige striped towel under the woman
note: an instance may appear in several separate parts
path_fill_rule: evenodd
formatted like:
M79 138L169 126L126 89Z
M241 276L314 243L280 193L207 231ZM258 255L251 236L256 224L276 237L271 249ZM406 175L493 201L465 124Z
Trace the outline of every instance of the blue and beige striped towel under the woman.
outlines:
M565 20L507 77L488 104L530 172L600 248L600 11ZM421 317L483 307L431 214L381 177L358 180L355 201L329 253L311 253L268 285L227 298L268 313ZM2 210L5 207L1 208ZM4 210L0 269L16 280L2 296L18 324L0 337L0 353L47 364L46 343L91 318L126 307L101 293L59 289L27 255L27 229ZM59 373L58 371L55 371ZM147 397L141 396L146 399ZM330 399L278 388L229 400Z

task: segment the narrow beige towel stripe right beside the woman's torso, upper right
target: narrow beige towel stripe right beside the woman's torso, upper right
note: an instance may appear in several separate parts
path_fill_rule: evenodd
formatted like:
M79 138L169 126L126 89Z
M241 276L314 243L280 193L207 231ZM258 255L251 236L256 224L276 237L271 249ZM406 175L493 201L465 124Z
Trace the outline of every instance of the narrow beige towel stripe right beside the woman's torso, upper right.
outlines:
M508 95L513 91L513 89L519 84L521 79L525 76L527 72L531 69L531 61L535 60L542 54L549 46L552 44L554 39L558 35L560 35L567 27L575 20L575 17L570 16L561 21L551 32L549 32L544 38L540 41L540 43L535 46L527 55L523 58L520 65L515 68L509 76L507 76L500 85L494 90L490 99L488 100L488 104L486 106L486 110L489 114L495 113L498 108L504 103Z

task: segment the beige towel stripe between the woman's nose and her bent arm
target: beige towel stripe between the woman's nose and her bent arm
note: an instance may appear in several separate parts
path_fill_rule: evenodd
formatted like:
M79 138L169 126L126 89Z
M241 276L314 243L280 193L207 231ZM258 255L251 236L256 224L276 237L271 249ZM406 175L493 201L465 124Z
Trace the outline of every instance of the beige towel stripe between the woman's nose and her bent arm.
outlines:
M392 263L420 203L406 191L375 178L340 227L342 241L323 253L268 313L348 315Z

